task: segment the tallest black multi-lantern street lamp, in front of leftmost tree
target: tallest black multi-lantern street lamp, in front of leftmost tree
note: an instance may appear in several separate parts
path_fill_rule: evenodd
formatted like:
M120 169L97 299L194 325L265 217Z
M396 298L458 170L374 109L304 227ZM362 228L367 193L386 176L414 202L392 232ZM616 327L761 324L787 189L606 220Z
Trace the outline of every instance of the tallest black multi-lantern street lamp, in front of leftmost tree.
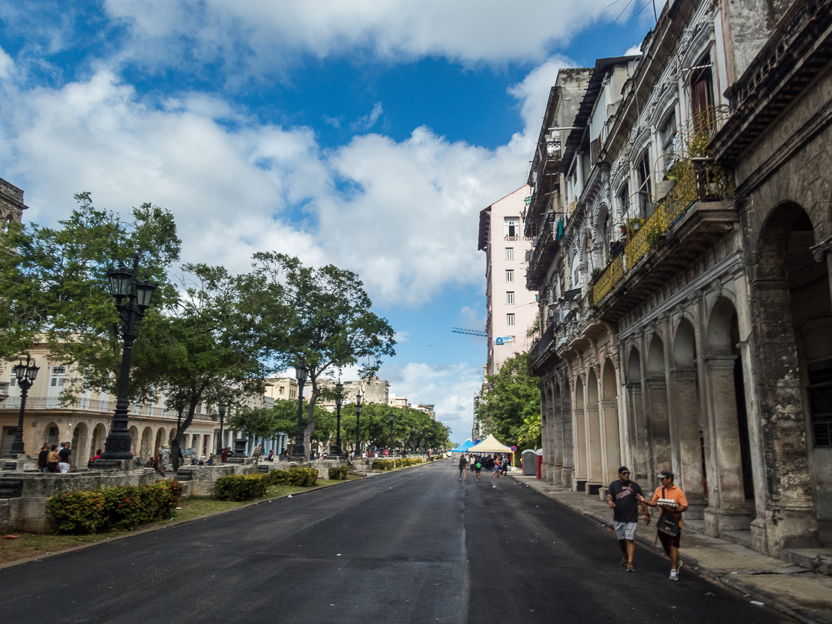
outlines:
M126 267L121 264L118 269L107 273L110 278L110 292L116 300L116 310L124 323L124 344L121 353L121 373L118 377L116 412L112 415L110 433L107 434L102 454L102 459L105 461L131 461L133 459L133 453L130 450L130 432L127 430L127 414L130 408L130 403L127 401L130 388L130 360L133 342L136 340L136 328L145 315L145 311L150 307L153 291L156 290L155 284L151 284L147 278L139 281L138 275L138 254L133 255L132 272L126 270ZM127 302L122 304L121 301L125 297ZM100 461L96 463L96 468L100 468Z

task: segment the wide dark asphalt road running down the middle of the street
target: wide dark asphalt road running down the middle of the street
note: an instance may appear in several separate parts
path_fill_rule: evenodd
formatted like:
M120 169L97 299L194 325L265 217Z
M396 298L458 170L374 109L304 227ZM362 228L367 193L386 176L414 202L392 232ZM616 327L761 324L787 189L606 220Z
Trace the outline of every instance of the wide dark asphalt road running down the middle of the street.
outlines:
M793 622L620 559L607 527L444 461L0 570L0 622Z

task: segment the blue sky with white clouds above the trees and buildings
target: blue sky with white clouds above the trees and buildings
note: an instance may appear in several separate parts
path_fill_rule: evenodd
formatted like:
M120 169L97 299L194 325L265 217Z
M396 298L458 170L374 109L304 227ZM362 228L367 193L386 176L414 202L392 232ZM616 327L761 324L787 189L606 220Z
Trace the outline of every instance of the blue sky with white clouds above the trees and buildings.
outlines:
M399 332L381 376L461 442L478 211L524 183L557 69L641 43L627 1L0 1L0 177L37 223L92 191L171 210L185 260L357 271Z

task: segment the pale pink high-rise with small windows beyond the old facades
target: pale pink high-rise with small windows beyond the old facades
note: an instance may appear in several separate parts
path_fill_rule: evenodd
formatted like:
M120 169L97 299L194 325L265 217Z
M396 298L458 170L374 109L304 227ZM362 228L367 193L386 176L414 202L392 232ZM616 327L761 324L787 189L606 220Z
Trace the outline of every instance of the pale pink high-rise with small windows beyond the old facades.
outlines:
M514 354L527 351L527 336L537 315L537 294L526 290L526 252L532 238L523 236L522 215L532 194L523 185L479 213L479 250L486 257L488 363L486 374L496 373Z

